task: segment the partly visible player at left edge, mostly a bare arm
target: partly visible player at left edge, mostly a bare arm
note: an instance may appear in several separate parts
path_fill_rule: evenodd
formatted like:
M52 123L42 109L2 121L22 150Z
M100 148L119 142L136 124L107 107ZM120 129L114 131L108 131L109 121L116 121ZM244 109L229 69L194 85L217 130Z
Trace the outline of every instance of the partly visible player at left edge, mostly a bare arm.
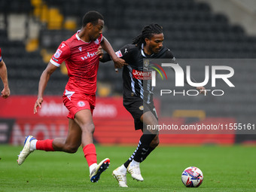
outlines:
M10 89L8 85L8 75L7 75L7 68L5 65L5 62L2 59L2 50L0 48L0 78L2 79L2 82L4 84L4 89L2 90L2 97L8 98L10 96Z

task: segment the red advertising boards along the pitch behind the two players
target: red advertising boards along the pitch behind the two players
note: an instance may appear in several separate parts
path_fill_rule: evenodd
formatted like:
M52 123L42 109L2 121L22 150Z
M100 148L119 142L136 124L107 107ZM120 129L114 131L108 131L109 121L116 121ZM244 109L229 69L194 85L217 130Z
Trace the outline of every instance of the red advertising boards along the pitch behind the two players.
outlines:
M68 133L68 110L62 104L61 96L44 96L44 102L33 114L36 96L11 96L0 99L0 143L22 145L25 136L35 136L37 139L54 139L66 137ZM159 104L157 102L157 108ZM96 108L93 112L93 121L96 126L94 139L105 145L136 145L142 135L141 131L134 130L133 117L123 107L121 97L96 98ZM168 118L162 123L175 123L181 126L185 118ZM200 124L236 123L233 118L206 117ZM197 123L197 122L196 122ZM194 124L196 124L194 123ZM193 125L193 123L190 123ZM163 133L163 132L160 132ZM162 145L187 144L233 144L235 135L232 133L163 133L160 134Z

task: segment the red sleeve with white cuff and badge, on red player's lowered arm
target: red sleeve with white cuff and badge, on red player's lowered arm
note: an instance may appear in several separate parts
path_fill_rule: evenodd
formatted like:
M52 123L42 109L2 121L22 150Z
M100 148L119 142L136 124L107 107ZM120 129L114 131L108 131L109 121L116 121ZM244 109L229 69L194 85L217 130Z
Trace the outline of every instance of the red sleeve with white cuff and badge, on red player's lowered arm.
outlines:
M65 41L63 41L61 44L59 44L58 49L54 53L54 55L51 57L50 62L54 65L59 67L60 64L68 59L70 56L70 48L69 45L66 44Z

